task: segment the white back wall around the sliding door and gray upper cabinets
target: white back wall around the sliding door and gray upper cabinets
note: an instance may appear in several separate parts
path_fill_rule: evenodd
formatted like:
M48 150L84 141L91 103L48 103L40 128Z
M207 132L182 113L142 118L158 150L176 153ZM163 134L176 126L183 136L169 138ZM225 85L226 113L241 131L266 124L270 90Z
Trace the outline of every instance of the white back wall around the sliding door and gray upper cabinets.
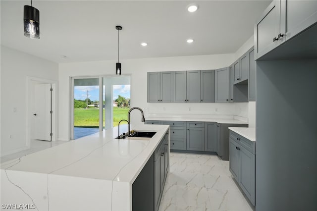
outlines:
M122 73L131 76L131 106L143 108L146 115L151 113L182 114L231 114L235 113L234 104L184 103L184 104L149 104L147 103L147 72L204 70L228 66L234 61L234 54L216 54L200 56L179 56L161 58L143 58L121 60ZM113 75L116 61L93 61L59 64L59 139L69 139L69 90L71 76ZM165 111L163 108L165 107ZM188 109L191 108L191 110ZM245 109L248 109L245 106ZM217 108L217 112L215 111ZM245 110L242 109L242 110ZM244 112L247 117L247 112ZM133 112L131 123L139 122L139 113Z

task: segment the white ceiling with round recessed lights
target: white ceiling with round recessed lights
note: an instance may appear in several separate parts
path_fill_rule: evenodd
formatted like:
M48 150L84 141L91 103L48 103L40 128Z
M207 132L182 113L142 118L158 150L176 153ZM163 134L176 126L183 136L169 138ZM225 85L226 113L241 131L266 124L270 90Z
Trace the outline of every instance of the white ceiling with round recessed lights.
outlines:
M1 45L58 63L112 60L121 25L120 59L235 53L270 1L34 0L41 38L32 40L23 35L23 5L31 0L1 0ZM194 2L199 9L190 13Z

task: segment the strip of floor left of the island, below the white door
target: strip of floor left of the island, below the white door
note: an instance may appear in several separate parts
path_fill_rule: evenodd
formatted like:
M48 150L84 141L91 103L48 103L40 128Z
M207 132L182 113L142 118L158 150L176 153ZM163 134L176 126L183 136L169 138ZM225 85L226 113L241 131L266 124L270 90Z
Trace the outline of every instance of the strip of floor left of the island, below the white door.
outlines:
M31 148L27 150L23 150L21 152L13 153L7 156L2 156L0 158L0 162L6 162L11 159L20 158L22 156L26 156L41 150L45 150L50 147L54 147L60 144L67 143L67 141L41 141L41 140L31 140Z

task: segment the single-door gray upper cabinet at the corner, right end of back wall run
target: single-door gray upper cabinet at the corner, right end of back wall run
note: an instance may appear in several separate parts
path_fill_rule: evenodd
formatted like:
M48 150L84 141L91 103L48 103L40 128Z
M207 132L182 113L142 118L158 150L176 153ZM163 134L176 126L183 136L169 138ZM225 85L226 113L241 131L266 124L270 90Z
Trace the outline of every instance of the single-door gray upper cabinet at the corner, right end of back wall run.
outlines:
M215 102L229 103L229 67L216 69L215 75Z

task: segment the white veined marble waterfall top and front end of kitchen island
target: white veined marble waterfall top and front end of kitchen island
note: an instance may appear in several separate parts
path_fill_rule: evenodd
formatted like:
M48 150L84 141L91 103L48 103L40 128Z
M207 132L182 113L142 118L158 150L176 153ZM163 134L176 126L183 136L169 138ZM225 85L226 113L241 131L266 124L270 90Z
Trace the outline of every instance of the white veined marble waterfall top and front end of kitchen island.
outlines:
M140 124L133 129L156 134L149 140L115 139L115 127L1 163L1 206L132 210L132 185L169 126Z

